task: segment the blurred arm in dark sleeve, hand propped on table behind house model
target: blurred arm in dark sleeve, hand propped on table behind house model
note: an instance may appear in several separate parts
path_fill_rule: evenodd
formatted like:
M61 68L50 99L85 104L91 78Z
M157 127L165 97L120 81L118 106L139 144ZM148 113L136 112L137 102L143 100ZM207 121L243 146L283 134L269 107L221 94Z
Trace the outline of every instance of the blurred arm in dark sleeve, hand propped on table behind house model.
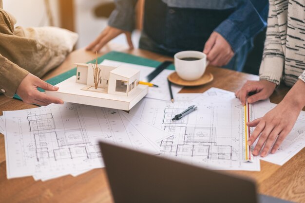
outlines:
M86 47L86 50L97 52L114 37L123 33L130 49L133 49L131 35L134 29L136 2L137 0L114 0L115 9L109 17L108 26Z

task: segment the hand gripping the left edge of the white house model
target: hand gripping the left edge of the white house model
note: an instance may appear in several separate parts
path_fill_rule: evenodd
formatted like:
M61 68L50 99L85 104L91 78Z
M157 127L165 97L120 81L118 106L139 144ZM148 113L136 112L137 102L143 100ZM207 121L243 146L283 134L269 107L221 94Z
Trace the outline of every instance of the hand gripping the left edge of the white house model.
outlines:
M46 83L39 77L33 74L27 74L19 84L16 93L20 96L23 102L28 104L37 104L39 106L47 106L51 103L63 104L63 101L61 99L48 96L43 92L39 92L37 90L38 87L44 90L58 90L58 87Z

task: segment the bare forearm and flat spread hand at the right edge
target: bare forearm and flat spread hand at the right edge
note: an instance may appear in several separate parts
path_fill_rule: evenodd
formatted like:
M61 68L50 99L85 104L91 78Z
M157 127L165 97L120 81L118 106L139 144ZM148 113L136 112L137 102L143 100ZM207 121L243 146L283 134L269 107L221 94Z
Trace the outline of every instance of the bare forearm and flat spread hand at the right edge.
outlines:
M247 124L249 127L256 127L248 140L248 145L253 145L258 139L252 152L254 156L261 152L261 156L265 157L270 149L271 153L275 153L293 128L305 106L305 71L299 78L274 109Z

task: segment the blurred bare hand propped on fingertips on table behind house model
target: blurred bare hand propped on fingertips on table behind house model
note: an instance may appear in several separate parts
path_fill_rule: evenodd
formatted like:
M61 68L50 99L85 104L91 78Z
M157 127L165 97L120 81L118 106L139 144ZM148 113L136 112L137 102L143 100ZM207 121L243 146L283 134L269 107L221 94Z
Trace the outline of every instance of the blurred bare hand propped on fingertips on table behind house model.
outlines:
M126 32L111 26L107 26L102 33L86 47L88 51L98 52L103 46L105 46L110 40L118 35L124 33L126 35L129 48L133 49L132 33Z

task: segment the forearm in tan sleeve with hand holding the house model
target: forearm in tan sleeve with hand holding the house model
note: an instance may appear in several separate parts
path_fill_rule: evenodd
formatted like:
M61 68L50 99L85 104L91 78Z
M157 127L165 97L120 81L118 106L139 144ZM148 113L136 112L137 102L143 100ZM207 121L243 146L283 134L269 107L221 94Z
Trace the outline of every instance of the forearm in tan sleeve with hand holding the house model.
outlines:
M44 82L0 55L0 92L8 97L13 97L17 93L25 103L29 104L40 106L51 103L63 104L61 99L39 92L38 87L44 90L58 90L57 87Z

